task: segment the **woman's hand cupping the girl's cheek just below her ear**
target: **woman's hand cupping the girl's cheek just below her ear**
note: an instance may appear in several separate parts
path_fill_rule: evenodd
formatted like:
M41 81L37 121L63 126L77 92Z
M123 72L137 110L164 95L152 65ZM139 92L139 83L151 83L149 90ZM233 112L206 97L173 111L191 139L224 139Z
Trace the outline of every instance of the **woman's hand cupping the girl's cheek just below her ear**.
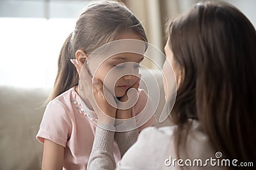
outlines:
M88 66L85 61L83 64L78 60L73 60L72 62L77 69L79 74L79 96L84 100L85 97L92 104L93 110L95 111L98 117L98 124L114 124L116 117L116 106L111 106L106 100L113 100L111 103L115 103L113 96L110 92L104 89L103 84L97 78L92 78L88 73ZM83 68L83 69L82 69ZM110 99L109 99L110 98Z

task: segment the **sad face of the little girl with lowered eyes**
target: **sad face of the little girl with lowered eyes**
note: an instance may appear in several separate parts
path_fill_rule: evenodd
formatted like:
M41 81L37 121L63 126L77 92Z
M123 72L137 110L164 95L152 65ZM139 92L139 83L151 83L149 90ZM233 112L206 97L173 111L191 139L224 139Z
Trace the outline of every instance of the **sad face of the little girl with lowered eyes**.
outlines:
M134 32L119 34L117 39L143 40ZM145 48L141 50L144 52ZM138 80L140 62L143 59L144 56L137 53L118 53L109 57L99 66L95 77L104 82L104 87L111 93L115 93L114 96L122 97Z

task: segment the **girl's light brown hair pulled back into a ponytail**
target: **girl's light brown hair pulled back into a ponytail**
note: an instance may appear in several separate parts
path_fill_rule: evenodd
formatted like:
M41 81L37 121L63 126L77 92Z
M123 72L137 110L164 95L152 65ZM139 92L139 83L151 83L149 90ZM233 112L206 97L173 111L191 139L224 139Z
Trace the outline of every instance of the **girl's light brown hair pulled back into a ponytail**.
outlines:
M70 59L75 59L77 50L88 55L100 46L114 41L117 34L132 31L147 42L147 36L134 14L118 1L93 1L80 15L72 32L61 48L58 59L58 73L54 83L51 101L61 93L78 84L79 75Z

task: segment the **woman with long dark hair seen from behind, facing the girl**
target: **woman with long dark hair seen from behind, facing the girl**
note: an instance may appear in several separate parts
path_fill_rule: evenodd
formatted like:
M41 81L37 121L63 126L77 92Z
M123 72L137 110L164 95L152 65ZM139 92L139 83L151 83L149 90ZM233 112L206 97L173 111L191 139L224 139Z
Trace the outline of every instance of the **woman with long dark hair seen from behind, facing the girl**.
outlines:
M256 159L253 25L234 6L207 2L175 18L168 34L163 70L171 71L166 69L170 62L177 77L177 99L170 115L175 125L143 130L116 168L239 169L247 165L243 169L253 169L249 165ZM99 95L101 84L93 89ZM111 126L104 118L99 124ZM113 134L97 127L88 169L115 168Z

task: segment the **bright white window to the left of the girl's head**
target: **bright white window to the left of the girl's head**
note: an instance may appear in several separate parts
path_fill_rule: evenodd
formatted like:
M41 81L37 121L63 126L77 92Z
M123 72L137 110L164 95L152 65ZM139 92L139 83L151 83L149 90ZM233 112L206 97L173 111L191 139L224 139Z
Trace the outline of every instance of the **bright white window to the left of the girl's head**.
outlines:
M65 39L88 1L0 1L0 85L52 87Z

